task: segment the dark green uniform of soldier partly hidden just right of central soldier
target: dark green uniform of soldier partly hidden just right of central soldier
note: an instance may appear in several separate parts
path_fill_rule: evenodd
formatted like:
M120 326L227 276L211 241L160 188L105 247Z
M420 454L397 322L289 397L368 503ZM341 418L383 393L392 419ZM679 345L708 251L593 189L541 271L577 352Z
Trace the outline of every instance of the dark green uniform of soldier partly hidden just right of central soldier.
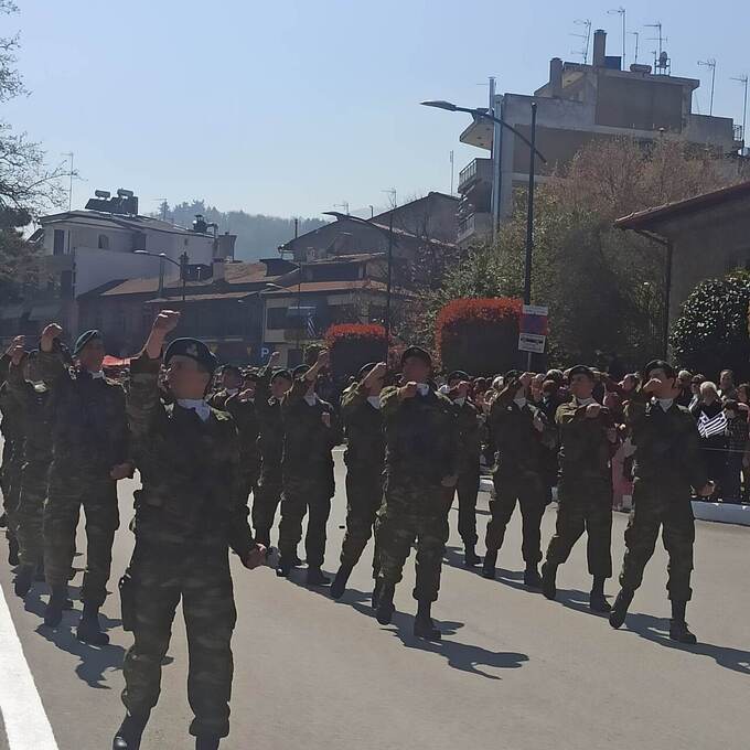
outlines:
M476 496L479 495L479 457L482 450L481 415L469 400L453 401L459 430L459 479L456 492L459 496L459 535L467 547L476 544Z

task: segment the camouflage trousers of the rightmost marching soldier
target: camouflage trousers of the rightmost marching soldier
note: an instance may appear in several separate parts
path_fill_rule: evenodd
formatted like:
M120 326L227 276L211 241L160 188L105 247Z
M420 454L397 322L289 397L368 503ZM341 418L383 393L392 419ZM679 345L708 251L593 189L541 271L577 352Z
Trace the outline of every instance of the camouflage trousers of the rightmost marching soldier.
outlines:
M620 572L622 588L638 589L643 570L654 554L660 528L669 556L666 588L669 599L689 601L695 518L689 490L664 488L636 479L633 510L625 529L625 557Z

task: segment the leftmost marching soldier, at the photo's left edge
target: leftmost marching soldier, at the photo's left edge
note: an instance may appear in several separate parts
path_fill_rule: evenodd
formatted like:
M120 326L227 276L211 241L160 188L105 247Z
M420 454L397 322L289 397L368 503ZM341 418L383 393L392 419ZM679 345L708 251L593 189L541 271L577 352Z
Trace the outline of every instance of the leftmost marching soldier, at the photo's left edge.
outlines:
M19 343L8 375L10 395L19 405L24 424L23 467L15 513L20 567L14 589L25 597L34 575L44 566L43 512L47 495L47 472L52 461L50 390L39 378L39 352L26 353Z

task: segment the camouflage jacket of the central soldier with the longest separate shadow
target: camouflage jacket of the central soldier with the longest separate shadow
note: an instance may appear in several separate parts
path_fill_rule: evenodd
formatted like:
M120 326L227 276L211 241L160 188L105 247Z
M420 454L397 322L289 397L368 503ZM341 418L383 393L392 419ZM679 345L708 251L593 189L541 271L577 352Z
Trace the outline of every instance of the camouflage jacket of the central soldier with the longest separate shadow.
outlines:
M400 399L398 388L388 386L381 393L381 410L390 490L399 484L435 489L458 473L458 418L449 398L430 389Z

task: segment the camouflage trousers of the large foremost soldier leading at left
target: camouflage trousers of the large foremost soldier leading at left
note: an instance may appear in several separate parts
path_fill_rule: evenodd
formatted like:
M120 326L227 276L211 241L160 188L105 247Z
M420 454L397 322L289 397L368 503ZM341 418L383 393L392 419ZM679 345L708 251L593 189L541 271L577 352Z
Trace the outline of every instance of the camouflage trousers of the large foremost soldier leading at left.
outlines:
M130 565L133 644L125 656L122 703L131 714L150 710L161 692L161 665L182 599L188 631L191 735L229 733L232 632L237 613L226 547L136 542Z

